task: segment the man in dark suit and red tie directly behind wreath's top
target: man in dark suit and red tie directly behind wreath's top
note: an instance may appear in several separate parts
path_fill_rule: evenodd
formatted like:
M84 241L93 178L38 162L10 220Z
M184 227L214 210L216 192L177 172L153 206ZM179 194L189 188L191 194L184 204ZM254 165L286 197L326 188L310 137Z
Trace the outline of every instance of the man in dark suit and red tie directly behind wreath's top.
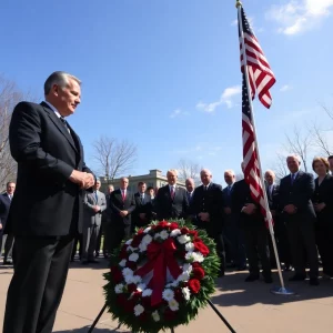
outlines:
M167 172L168 185L159 189L154 205L158 220L186 218L189 201L186 191L176 185L176 170Z

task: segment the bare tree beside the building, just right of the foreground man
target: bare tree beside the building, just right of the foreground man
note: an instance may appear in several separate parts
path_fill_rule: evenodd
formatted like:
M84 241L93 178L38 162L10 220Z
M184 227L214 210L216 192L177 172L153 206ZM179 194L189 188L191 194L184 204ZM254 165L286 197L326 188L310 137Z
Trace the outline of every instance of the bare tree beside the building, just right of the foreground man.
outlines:
M127 140L118 141L107 135L100 137L92 144L93 159L98 162L99 172L108 180L129 172L137 160L137 145Z

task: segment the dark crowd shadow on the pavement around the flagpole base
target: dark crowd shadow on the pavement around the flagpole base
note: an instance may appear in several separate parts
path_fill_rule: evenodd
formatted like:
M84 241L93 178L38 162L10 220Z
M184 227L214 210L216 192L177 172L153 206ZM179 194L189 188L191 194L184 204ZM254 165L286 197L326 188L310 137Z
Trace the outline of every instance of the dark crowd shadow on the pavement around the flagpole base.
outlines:
M266 284L263 280L244 282L249 272L229 273L216 282L216 290L222 292L211 300L220 306L250 306L256 303L282 305L290 302L306 300L320 300L333 296L333 280L320 279L320 285L309 285L309 280L302 282L289 282L287 279L294 272L283 273L286 289L295 292L295 295L275 295L271 290L281 286L278 272L273 273L273 283Z

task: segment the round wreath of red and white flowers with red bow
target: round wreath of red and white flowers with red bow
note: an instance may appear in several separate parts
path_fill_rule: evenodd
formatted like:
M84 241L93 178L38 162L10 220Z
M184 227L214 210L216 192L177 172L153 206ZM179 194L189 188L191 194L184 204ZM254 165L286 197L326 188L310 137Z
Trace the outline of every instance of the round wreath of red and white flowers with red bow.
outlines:
M133 332L188 324L214 293L215 243L183 220L153 222L117 249L105 273L113 320Z

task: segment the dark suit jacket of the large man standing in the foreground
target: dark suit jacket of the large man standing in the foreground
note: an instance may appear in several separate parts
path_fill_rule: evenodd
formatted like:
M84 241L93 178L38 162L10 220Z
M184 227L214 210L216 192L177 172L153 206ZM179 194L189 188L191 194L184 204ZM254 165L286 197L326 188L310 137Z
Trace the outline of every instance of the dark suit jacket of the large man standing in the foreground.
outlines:
M83 195L72 171L91 172L80 138L71 134L47 103L20 102L9 142L18 179L7 226L14 235L61 236L82 232Z

